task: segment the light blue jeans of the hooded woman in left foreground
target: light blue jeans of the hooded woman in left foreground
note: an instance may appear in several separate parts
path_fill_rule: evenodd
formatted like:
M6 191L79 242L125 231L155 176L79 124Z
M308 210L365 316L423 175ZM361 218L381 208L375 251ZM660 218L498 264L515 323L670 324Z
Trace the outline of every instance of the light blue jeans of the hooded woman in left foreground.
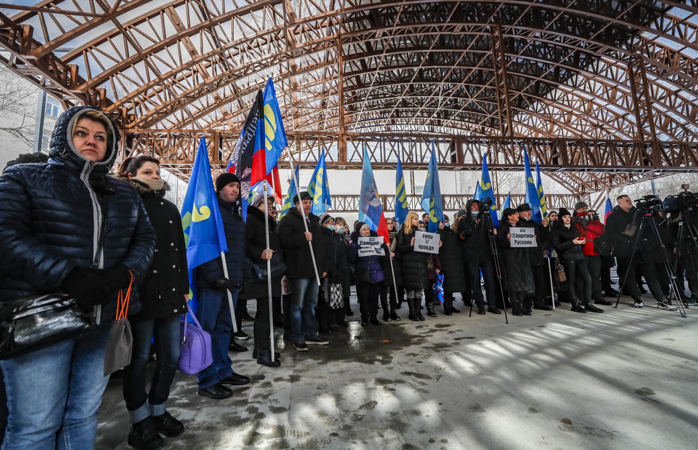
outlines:
M0 361L8 424L3 450L89 450L107 387L104 354L112 324Z

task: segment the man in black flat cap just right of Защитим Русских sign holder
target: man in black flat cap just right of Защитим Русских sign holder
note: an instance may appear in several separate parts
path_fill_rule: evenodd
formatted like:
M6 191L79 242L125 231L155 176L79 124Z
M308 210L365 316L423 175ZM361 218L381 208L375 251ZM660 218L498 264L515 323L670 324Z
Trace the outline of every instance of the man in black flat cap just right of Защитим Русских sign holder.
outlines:
M519 212L519 222L517 226L521 228L534 228L535 229L535 242L537 247L526 248L526 253L528 253L528 262L530 263L530 268L533 272L533 283L535 284L535 294L533 294L533 307L535 309L543 309L544 311L551 311L553 307L551 303L546 302L547 290L549 290L550 279L548 274L548 263L545 261L544 251L550 247L547 242L548 239L548 221L543 219L542 224L538 224L533 220L532 212L530 210L530 205L528 203L522 203L517 208ZM530 296L530 295L529 295ZM528 299L527 299L528 300ZM527 301L526 304L530 304Z

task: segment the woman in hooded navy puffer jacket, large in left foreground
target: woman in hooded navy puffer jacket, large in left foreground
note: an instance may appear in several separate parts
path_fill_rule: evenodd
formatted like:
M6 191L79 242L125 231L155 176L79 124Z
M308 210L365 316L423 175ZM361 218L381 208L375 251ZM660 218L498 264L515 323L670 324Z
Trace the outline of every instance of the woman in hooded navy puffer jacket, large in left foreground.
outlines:
M47 164L17 164L0 177L0 301L63 291L94 310L100 324L0 362L12 393L7 449L94 447L117 292L128 288L131 274L138 286L155 249L138 192L107 176L118 143L119 131L102 111L73 107L56 123ZM139 307L134 292L128 313Z

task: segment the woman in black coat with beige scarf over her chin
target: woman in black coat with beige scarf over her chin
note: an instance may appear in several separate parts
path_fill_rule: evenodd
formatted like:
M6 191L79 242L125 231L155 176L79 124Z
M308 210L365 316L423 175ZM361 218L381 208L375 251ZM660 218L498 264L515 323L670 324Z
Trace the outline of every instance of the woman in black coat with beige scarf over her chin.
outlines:
M165 401L179 364L179 317L187 311L189 272L186 251L179 251L186 248L179 210L164 198L170 186L160 178L160 162L145 155L128 157L119 176L140 194L157 235L153 260L138 288L142 308L128 317L133 353L124 371L124 400L133 424L128 443L139 449L161 445L158 433L170 437L184 433L184 425L165 409ZM153 339L156 366L147 392L145 371Z

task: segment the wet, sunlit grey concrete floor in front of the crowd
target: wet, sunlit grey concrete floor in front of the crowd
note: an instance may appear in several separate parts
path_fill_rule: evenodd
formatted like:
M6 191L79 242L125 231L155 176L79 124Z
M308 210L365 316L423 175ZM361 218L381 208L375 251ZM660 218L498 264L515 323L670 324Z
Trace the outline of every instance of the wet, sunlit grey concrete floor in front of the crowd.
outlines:
M186 426L165 449L696 449L698 307L688 318L629 303L569 304L533 317L444 316L362 328L358 306L329 346L282 365L231 353L252 378L215 401L177 373L168 410ZM254 302L251 302L253 313ZM252 324L244 323L252 334ZM121 380L110 381L97 449L127 449Z

